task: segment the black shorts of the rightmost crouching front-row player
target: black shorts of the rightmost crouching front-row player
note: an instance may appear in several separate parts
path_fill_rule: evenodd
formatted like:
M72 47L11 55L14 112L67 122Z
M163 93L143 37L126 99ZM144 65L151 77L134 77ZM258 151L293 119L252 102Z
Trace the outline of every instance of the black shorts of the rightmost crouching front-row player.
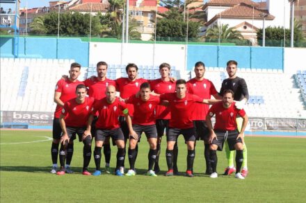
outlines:
M215 130L215 134L217 136L217 139L214 139L211 143L214 145L218 145L218 150L223 150L224 142L227 141L230 150L235 150L236 143L242 143L241 138L237 139L237 136L239 134L238 130Z

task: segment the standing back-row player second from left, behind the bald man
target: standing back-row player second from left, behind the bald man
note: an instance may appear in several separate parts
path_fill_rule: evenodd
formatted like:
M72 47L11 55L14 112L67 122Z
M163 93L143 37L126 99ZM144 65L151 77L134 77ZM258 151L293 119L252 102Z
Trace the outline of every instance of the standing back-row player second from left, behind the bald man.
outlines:
M89 96L95 98L95 100L100 100L104 98L106 87L108 85L115 86L115 81L110 80L106 78L106 72L107 72L107 64L106 62L98 62L97 63L97 77L94 78L88 78L84 81L84 85L88 87ZM94 132L94 126L95 121L97 121L98 114L95 115L94 121L92 122L92 136L95 136ZM103 152L105 157L105 172L111 173L111 167L109 166L109 162L111 161L111 145L109 142L109 136L106 137L104 143L103 143Z

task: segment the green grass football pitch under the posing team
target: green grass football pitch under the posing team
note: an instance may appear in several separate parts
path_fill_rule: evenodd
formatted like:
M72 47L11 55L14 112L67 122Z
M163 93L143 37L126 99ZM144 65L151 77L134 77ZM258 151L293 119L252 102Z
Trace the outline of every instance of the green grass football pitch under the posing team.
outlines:
M179 171L174 177L147 177L148 144L139 146L135 177L81 175L82 143L74 144L74 174L52 175L49 131L1 130L0 202L305 202L306 139L246 137L249 177L211 179L204 175L203 143L196 146L195 177L184 177L186 145L179 138ZM144 138L144 137L143 137ZM165 137L163 137L165 139ZM33 142L36 141L36 142ZM163 140L164 141L164 140ZM165 142L160 164L166 172ZM112 147L111 166L116 148ZM126 166L129 166L126 158ZM102 159L104 166L104 158ZM225 168L218 152L218 173ZM90 172L95 169L93 159Z

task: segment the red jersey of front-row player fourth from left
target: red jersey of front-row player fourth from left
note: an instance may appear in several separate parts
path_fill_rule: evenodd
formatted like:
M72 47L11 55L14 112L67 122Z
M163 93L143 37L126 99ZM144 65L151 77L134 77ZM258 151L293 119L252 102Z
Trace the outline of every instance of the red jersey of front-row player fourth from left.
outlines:
M177 98L175 93L162 94L161 100L168 100L171 119L169 127L175 127L179 129L186 129L193 127L193 120L191 118L193 105L196 102L202 103L203 99L186 93L186 96L182 99Z

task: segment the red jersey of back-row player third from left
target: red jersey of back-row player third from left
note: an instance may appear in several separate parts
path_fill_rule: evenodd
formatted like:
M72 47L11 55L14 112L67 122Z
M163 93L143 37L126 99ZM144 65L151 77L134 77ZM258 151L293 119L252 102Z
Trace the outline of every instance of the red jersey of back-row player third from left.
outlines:
M138 78L135 81L130 81L128 78L118 78L117 80L115 80L115 82L116 89L120 92L120 97L125 99L129 98L133 94L136 94L140 89L140 85L143 84L143 82L147 82L147 80L143 78ZM129 109L129 115L133 116L133 105L127 105L127 108Z

